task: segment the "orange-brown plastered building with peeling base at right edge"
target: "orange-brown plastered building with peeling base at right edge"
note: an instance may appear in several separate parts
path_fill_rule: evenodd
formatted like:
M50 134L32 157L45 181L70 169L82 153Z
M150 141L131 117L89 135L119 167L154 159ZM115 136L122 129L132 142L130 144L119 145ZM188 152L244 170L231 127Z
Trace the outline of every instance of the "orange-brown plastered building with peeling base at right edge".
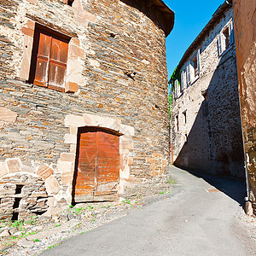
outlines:
M256 215L256 1L234 0L233 5L247 189Z

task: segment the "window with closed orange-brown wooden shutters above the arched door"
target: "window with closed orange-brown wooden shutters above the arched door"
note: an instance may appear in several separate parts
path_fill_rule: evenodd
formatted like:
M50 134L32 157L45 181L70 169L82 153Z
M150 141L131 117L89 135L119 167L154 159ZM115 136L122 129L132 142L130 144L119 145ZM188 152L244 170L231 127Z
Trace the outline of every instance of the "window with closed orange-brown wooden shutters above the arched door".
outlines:
M30 81L55 90L65 90L69 38L36 27Z

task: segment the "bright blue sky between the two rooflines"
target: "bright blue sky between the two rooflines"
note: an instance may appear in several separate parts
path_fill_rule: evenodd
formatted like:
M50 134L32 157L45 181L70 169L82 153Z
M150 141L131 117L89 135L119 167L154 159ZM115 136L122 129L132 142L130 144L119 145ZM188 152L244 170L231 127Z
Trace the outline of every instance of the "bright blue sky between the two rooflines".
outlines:
M168 79L186 49L212 18L224 0L164 0L175 12L175 22L171 34L166 38Z

